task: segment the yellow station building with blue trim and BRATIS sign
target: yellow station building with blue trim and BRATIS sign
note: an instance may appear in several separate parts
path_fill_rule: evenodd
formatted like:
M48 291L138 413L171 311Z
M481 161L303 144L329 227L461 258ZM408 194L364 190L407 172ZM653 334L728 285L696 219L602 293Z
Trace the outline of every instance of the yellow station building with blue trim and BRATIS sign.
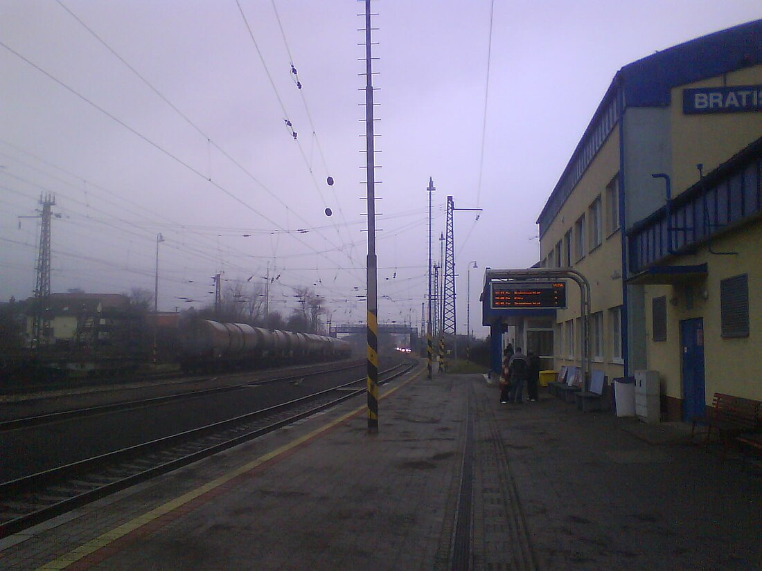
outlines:
M592 368L658 372L661 418L689 419L716 392L762 399L760 212L762 20L616 73L539 214L537 266L590 283ZM485 325L511 321L524 346L552 328L554 368L579 365L567 295L553 317Z

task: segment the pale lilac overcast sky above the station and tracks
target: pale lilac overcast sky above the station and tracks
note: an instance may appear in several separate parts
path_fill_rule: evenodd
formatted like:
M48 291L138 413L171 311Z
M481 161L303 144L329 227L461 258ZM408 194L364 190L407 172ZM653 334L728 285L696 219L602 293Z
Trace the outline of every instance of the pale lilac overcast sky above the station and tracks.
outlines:
M383 323L420 322L429 177L437 258L447 195L484 209L454 232L458 330L475 260L483 335L483 269L537 261L536 217L616 71L762 17L758 0L495 0L490 33L491 7L373 2ZM269 264L272 308L309 286L335 324L364 320L363 9L0 0L0 301L33 295L40 223L18 217L54 193L53 292L152 291L161 233L161 310L210 304L218 272L261 285Z

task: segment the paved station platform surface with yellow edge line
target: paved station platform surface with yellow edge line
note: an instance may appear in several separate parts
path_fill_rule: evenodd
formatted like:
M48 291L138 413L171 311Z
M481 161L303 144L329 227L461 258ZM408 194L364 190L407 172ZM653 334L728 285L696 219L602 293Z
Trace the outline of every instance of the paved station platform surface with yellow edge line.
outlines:
M0 568L762 569L758 473L498 392L410 375L377 435L344 404L5 538Z

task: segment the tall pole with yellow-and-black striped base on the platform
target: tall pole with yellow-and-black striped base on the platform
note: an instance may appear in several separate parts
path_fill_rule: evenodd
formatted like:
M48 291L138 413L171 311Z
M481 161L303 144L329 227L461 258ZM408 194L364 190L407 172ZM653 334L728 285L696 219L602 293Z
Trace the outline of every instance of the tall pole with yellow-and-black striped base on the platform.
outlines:
M370 38L370 0L365 0L365 142L367 160L367 397L368 434L379 431L378 291L376 261L376 164L373 145L373 59Z

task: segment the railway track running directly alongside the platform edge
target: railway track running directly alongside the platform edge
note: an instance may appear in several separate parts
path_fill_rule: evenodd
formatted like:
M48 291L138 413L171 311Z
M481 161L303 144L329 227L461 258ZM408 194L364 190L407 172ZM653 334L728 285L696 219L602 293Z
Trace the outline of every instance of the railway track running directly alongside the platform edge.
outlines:
M381 383L412 363L386 369ZM0 538L158 474L273 432L363 394L365 378L232 419L179 432L0 484Z

